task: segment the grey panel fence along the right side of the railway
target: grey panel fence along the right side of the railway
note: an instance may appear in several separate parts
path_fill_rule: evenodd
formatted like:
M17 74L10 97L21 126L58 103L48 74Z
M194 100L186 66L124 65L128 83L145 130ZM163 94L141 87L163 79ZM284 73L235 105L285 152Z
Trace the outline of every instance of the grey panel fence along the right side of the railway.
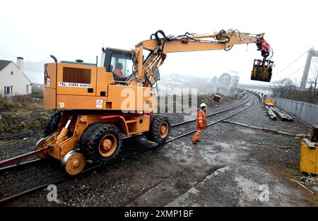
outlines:
M318 104L276 98L276 107L294 114L307 124L318 124Z

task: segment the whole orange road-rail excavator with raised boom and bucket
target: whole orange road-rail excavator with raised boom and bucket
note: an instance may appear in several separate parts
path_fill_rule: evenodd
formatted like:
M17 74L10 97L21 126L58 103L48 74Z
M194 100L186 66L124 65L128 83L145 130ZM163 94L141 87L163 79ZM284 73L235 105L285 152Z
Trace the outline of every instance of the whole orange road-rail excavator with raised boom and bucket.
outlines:
M269 82L273 61L264 33L221 30L211 35L186 32L166 36L161 30L134 49L102 49L101 65L60 61L45 64L45 109L56 109L37 142L37 155L61 161L66 173L78 174L86 160L107 162L122 148L122 133L144 133L149 141L164 143L170 121L153 114L158 66L170 52L229 50L234 44L255 43L264 59L254 60L252 80ZM124 76L124 77L123 77Z

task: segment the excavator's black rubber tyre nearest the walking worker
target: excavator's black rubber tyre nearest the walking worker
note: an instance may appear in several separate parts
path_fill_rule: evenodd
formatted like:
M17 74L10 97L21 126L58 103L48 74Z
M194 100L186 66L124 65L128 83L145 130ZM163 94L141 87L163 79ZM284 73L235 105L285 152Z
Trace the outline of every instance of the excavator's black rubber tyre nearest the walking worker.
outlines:
M160 136L160 126L163 123L169 126L168 128L169 131L167 132L167 136L165 136L164 138ZM153 141L155 143L162 144L162 143L165 143L165 141L169 137L170 128L171 128L170 120L165 114L153 114L151 116L149 131L143 134L145 134L148 141Z

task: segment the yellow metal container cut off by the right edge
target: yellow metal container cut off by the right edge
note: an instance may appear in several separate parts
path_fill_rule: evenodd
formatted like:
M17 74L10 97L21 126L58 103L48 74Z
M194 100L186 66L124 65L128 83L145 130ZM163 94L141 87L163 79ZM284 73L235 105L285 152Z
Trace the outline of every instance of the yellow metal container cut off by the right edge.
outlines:
M302 139L300 149L300 172L318 174L318 143Z

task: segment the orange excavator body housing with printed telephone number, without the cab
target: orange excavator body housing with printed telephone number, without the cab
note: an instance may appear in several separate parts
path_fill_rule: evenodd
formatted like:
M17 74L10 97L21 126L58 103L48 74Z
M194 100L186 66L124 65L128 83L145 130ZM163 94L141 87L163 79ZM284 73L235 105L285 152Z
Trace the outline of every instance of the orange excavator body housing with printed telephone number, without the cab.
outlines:
M104 67L63 63L45 66L45 109L151 112L155 109L154 94L153 88L114 80Z

